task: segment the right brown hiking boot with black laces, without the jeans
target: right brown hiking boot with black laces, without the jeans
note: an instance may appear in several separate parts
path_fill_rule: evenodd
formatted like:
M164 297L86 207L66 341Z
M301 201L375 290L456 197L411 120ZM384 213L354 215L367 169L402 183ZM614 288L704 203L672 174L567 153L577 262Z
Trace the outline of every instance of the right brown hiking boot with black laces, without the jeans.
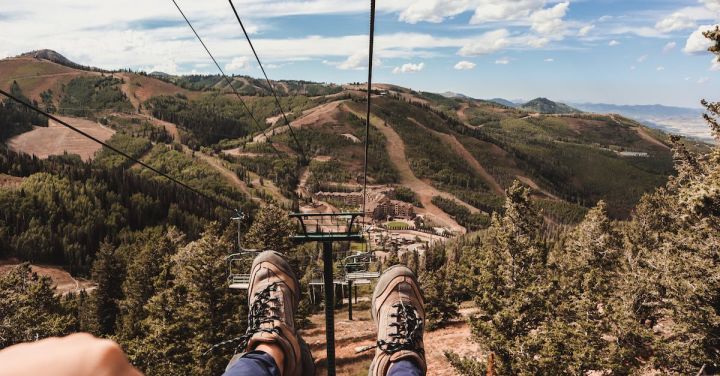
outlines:
M427 372L423 330L424 300L415 274L402 265L386 270L372 296L377 348L370 376L384 376L393 362L409 360Z

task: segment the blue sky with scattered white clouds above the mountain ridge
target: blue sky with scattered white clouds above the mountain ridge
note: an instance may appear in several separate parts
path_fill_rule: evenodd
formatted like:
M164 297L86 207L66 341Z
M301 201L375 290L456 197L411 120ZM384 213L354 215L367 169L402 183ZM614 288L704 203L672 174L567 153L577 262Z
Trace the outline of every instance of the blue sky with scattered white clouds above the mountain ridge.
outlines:
M216 73L170 0L0 0L0 57L51 48L102 68ZM178 0L230 73L259 69L227 1ZM236 0L274 79L365 81L368 1ZM379 0L376 82L478 98L715 98L700 31L720 0ZM715 96L715 97L714 97Z

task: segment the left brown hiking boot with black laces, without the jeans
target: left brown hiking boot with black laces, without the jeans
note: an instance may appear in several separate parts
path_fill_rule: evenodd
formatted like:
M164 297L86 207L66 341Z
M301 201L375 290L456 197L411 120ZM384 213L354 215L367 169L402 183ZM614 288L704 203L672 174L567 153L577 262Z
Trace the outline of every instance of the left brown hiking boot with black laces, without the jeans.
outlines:
M262 343L279 345L285 355L283 376L315 374L310 349L295 330L299 301L300 283L290 264L275 251L259 254L250 272L248 328L239 348L248 352Z

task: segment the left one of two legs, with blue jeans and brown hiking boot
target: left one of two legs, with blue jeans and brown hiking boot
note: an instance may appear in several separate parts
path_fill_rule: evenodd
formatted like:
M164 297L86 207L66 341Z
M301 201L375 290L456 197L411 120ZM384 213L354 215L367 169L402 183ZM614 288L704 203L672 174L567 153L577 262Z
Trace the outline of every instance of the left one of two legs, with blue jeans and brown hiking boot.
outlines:
M295 330L299 300L300 283L282 255L259 254L248 287L248 330L240 345L245 353L230 361L226 376L314 375L310 350Z

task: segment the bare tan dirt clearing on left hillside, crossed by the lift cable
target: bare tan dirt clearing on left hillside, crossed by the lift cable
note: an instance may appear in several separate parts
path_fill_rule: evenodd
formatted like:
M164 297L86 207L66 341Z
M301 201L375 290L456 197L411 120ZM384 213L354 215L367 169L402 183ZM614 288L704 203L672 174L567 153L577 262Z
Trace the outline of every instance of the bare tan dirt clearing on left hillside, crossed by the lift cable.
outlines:
M68 116L58 116L58 118L101 141L107 141L115 134L112 129L91 120ZM8 146L13 151L35 155L38 158L67 152L77 154L85 161L91 160L102 147L53 120L50 120L48 127L36 127L30 132L11 138L8 140Z

